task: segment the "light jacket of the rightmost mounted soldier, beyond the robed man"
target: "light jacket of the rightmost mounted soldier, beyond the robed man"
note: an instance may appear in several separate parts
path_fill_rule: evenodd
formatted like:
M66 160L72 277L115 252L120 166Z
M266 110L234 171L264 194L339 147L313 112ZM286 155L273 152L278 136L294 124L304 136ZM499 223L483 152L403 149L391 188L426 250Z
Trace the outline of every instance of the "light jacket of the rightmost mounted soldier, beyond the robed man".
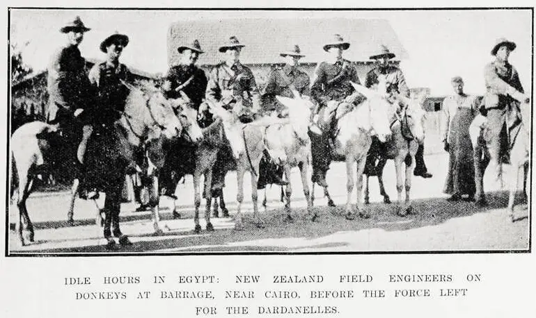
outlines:
M487 109L505 108L514 99L507 96L509 92L518 90L523 93L517 70L508 62L491 62L484 68L486 94L484 103Z

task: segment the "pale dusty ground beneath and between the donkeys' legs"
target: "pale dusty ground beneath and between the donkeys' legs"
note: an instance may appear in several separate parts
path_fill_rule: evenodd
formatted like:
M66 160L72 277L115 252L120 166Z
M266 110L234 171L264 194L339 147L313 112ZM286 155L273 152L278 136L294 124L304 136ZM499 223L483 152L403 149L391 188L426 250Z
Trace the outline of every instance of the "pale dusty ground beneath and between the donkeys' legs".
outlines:
M417 215L398 217L395 215L395 168L388 162L384 173L386 191L393 204L382 202L377 181L370 181L371 204L367 206L372 217L356 218L348 221L341 216L346 200L345 166L333 163L327 181L330 192L337 204L336 208L326 206L319 188L315 193L315 210L320 213L318 222L312 223L306 215L306 202L302 192L299 171L292 173L292 215L294 222L285 221L283 204L279 201L279 189L268 191L268 207L265 212L260 207L265 228L257 228L251 217L251 190L249 177L244 182L246 223L243 231L235 231L234 219L236 179L231 173L226 179L225 196L231 217L212 219L216 231L204 230L195 234L193 221L193 190L191 176L179 185L177 194L178 210L182 219L173 219L173 201L162 198L160 202L164 235L153 235L150 212L134 212L133 203L121 207L123 233L134 243L117 250L120 253L140 252L221 252L221 251L484 251L484 250L526 250L530 215L526 204L516 208L520 219L512 223L506 217L507 192L500 185L484 179L489 207L477 208L474 203L450 203L442 194L447 170L446 154L427 156L429 171L433 178L413 178L411 197ZM354 190L355 192L355 190ZM519 195L521 196L521 195ZM352 195L355 198L355 194ZM259 192L259 201L262 193ZM75 226L65 222L69 196L67 192L36 193L28 202L30 217L36 228L36 242L29 246L19 246L13 231L17 208L10 206L9 249L13 253L109 253L104 249L102 228L94 225L95 204L77 200L74 219ZM520 201L520 200L518 200ZM99 199L100 206L103 199ZM355 203L355 202L354 202ZM520 202L521 203L521 202ZM202 205L204 209L204 205ZM203 212L201 215L203 218Z

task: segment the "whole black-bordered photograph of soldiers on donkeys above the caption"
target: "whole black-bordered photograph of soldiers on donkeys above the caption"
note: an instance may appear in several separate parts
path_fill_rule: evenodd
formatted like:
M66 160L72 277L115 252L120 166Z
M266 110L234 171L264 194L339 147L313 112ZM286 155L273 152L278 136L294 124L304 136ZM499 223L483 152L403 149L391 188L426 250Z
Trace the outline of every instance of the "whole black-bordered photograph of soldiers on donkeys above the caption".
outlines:
M533 8L7 15L8 257L530 253Z

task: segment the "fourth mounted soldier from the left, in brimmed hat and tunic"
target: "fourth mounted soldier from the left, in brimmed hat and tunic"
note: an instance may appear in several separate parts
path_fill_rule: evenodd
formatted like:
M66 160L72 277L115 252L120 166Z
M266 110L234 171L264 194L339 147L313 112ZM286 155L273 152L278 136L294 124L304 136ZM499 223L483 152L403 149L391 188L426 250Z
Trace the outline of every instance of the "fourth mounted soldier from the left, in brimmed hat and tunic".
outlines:
M259 90L251 69L240 62L243 47L245 45L235 36L219 47L224 61L210 72L207 99L223 102L226 108L233 108L242 121L249 122L253 118L253 99L258 98Z

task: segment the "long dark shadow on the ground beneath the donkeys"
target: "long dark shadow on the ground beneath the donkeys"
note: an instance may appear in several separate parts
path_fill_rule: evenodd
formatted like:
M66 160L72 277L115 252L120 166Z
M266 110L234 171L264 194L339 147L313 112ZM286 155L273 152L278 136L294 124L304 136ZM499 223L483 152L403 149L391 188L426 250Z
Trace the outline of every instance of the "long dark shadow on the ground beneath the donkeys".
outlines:
M519 196L518 196L519 197ZM420 199L413 201L413 208L416 215L399 217L395 214L395 204L373 203L365 206L370 211L369 219L356 217L353 221L345 219L345 207L343 205L329 208L326 206L315 207L320 218L317 222L310 221L310 216L306 214L304 208L295 209L292 212L294 221L286 221L282 209L269 210L267 213L261 212L260 215L264 221L264 228L258 228L253 221L253 215L244 215L244 229L236 231L234 228L217 228L214 232L203 230L200 234L193 231L194 222L191 222L189 231L171 231L165 235L132 235L136 241L132 246L123 246L117 251L120 253L141 253L141 252L161 252L171 251L172 253L196 253L196 252L292 252L294 247L281 246L281 242L274 241L270 244L270 239L292 239L302 238L304 240L314 240L335 233L345 231L360 231L372 228L382 229L384 231L407 231L413 228L423 226L436 226L450 219L459 217L468 217L478 213L488 213L491 210L505 209L508 201L508 193L490 192L487 194L489 206L479 208L473 202L458 201L449 202L444 198ZM521 198L517 204L522 204ZM521 219L526 218L528 210L522 210L517 207L517 214ZM262 211L262 209L261 209ZM505 211L506 214L506 211ZM162 219L171 219L171 212L162 212ZM182 216L183 218L193 218L193 213L189 212ZM139 215L129 215L122 217L121 221L148 220L147 213ZM61 223L61 222L60 222ZM93 224L93 219L78 221L79 225ZM45 228L49 226L58 226L58 222L42 222L35 224L36 228ZM267 240L262 244L256 244L255 240ZM305 246L304 246L305 245ZM329 248L346 246L345 243L325 243L322 244L311 242L300 244L299 249L304 248ZM37 246L36 246L37 247ZM31 248L31 247L30 247ZM297 247L298 248L298 247ZM104 246L77 246L73 248L59 249L25 249L17 253L107 253Z

